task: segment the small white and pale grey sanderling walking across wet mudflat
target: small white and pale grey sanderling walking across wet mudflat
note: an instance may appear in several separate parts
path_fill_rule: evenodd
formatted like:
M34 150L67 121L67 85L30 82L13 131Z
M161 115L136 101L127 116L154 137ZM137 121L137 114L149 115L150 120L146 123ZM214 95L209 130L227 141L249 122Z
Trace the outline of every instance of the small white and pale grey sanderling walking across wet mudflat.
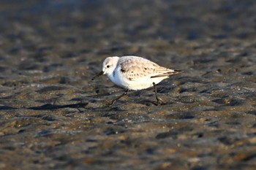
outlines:
M180 72L181 70L167 69L159 66L157 63L149 61L146 58L137 56L114 56L105 59L102 64L102 71L91 80L94 80L102 74L107 74L108 78L113 83L126 89L125 92L114 99L110 105L126 95L129 90L142 90L152 86L154 86L157 104L161 104L163 101L157 96L156 85L169 76Z

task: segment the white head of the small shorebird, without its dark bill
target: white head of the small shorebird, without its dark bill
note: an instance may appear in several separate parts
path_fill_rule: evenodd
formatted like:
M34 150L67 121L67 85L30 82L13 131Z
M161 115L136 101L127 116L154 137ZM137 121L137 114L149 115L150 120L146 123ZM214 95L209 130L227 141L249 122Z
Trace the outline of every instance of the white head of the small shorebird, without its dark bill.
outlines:
M113 73L114 69L116 69L116 65L118 63L118 57L108 57L102 63L102 72L103 74L107 74L108 76Z

